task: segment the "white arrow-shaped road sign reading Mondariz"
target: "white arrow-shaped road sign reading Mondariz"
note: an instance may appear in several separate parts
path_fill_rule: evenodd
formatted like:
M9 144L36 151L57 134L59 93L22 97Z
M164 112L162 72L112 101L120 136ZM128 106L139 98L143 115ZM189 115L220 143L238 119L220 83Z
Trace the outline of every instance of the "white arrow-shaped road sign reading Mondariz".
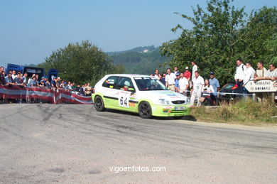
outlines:
M246 83L245 88L249 92L277 92L277 81L251 80Z

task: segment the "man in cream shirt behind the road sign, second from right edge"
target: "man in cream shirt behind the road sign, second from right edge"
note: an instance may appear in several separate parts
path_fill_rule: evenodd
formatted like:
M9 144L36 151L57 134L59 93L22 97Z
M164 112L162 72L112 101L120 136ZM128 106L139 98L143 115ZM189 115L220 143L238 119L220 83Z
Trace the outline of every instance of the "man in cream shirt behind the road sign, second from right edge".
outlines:
M267 70L264 67L264 62L259 61L257 63L257 70L254 74L254 80L265 80L267 77ZM256 92L255 98L258 102L264 102L264 99L267 97L267 94L264 92Z

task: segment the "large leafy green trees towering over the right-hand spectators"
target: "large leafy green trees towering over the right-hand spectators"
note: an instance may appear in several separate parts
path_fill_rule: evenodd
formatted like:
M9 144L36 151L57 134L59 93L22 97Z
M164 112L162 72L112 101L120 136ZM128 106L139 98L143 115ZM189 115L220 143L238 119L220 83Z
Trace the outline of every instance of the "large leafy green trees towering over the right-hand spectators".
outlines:
M162 55L172 56L171 67L183 70L195 60L202 76L208 77L214 71L224 85L234 81L237 58L253 61L266 53L262 45L276 33L275 7L251 13L247 22L244 7L236 9L232 1L207 1L206 11L197 5L192 9L194 17L177 13L194 26L188 30L178 24L172 31L181 30L180 37L161 46Z

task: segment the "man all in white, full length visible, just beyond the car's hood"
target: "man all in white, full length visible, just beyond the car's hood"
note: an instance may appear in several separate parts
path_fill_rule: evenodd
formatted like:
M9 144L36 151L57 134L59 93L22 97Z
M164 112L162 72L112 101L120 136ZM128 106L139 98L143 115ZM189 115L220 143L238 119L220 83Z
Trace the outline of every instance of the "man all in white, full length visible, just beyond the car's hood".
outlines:
M203 77L199 75L198 71L195 71L195 78L192 80L192 90L190 91L191 97L190 97L190 104L195 104L195 98L198 98L198 100L201 97L201 91L202 86L205 84Z

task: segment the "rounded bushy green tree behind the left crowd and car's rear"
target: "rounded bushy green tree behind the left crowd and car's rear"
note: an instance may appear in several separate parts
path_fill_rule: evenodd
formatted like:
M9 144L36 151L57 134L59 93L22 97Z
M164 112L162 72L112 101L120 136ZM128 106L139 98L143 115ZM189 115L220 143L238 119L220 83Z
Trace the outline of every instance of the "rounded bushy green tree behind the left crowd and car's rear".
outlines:
M104 75L124 71L123 67L116 67L106 53L89 43L89 40L81 44L69 43L65 48L53 51L39 67L58 69L59 76L65 80L77 84L90 82L92 85Z

